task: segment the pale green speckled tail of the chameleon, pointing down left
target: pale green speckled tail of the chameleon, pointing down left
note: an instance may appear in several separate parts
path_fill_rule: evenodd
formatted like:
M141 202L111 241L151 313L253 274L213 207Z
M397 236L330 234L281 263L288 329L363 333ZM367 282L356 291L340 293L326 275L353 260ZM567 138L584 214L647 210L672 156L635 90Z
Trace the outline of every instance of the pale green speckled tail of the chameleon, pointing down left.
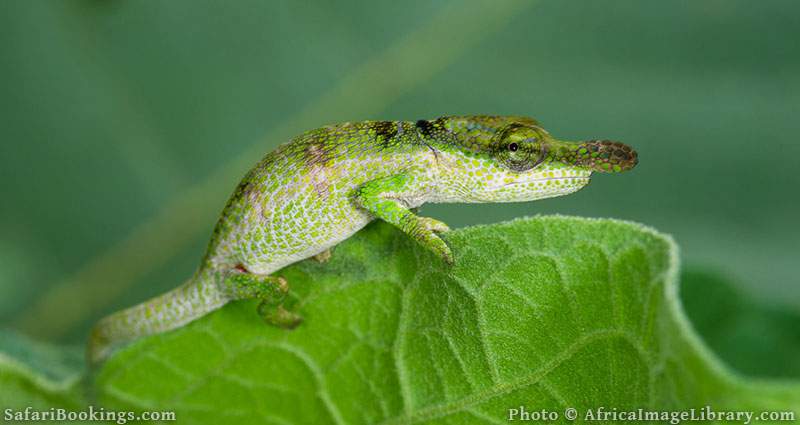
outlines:
M96 364L120 343L175 329L222 307L227 301L214 274L198 272L172 291L97 322L89 336L87 360Z

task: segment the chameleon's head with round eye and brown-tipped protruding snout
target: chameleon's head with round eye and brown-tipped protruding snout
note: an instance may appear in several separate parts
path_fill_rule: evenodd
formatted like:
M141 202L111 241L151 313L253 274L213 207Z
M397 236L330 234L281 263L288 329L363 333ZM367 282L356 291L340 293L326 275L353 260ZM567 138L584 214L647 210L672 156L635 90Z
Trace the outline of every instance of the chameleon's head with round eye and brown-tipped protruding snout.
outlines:
M447 198L461 202L566 195L586 186L592 172L627 171L638 162L627 145L556 140L531 118L446 117L428 123L431 137L422 137L437 152L437 181Z

